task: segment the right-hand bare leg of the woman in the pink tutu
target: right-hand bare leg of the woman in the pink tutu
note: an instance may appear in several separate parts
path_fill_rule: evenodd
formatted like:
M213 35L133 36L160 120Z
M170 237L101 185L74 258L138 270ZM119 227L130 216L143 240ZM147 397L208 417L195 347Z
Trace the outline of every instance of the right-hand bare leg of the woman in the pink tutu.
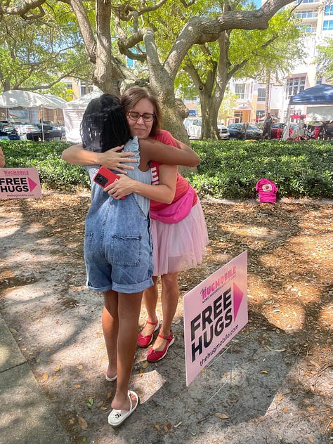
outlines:
M163 323L162 327L159 329L159 334L162 334L162 336L169 336L171 322L174 319L179 299L178 272L162 275L161 279ZM161 351L165 345L166 340L157 337L153 348L155 351Z

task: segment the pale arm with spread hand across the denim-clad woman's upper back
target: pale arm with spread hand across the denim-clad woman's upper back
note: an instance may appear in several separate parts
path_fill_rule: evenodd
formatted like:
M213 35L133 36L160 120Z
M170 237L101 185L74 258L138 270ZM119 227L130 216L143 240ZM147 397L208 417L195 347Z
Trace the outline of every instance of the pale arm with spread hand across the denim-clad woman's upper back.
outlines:
M81 143L72 145L63 151L61 158L74 165L103 165L107 168L126 174L126 169L133 169L133 166L125 165L123 162L136 162L132 159L133 152L118 152L122 147L112 148L105 152L94 152L84 150Z

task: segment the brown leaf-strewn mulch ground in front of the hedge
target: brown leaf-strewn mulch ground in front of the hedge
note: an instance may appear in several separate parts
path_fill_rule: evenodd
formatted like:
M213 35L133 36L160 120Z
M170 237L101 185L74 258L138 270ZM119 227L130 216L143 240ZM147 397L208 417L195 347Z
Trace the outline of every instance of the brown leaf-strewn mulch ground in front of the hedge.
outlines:
M0 216L12 216L18 228L38 230L41 242L49 240L45 248L52 247L52 254L61 256L61 267L70 278L65 289L60 288L63 307L68 309L78 306L79 301L68 296L66 289L70 286L74 292L84 284L75 277L81 279L84 274L82 243L89 203L86 193L61 192L46 192L42 200L0 202ZM326 406L320 417L322 430L329 433L332 411L327 405L332 402L333 386L332 202L282 200L277 204L259 204L203 200L202 206L209 230L207 256L202 266L180 274L181 294L247 249L247 332L256 331L267 350L274 350L268 332L285 335L284 359L292 356L302 360L299 377L308 393L322 398ZM33 245L22 245L25 248L33 254ZM11 261L6 262L6 257L1 262L1 299L6 301L9 289L34 278L32 273L26 277L19 273ZM38 273L43 265L38 260L35 265ZM34 263L30 262L30 266ZM181 322L182 309L179 303L176 325ZM318 414L311 410L311 403L304 408L308 414Z

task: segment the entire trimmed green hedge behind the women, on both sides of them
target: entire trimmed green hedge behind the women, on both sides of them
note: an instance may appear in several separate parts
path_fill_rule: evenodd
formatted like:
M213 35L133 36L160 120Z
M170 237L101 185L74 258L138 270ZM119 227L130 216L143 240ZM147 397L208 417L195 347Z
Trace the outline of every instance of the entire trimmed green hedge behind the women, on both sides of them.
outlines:
M84 169L60 159L71 143L2 140L1 145L6 166L36 167L44 187L89 189ZM193 141L192 148L201 164L188 180L201 197L256 197L256 182L263 177L277 184L280 197L333 197L331 141Z

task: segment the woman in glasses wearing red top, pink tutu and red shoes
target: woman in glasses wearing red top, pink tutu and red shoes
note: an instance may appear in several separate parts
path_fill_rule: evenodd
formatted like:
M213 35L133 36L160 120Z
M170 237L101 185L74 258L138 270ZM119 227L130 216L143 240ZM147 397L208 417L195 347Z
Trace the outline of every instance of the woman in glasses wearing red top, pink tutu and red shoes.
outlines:
M154 97L145 88L133 87L125 91L122 103L131 133L140 139L155 138L167 145L178 145L178 148L183 148L186 145L175 141L168 131L161 130L162 116ZM197 193L178 173L177 166L158 162L151 162L150 166L152 185L158 186L142 185L122 176L120 181L113 183L107 189L117 199L130 192L150 198L154 285L144 292L148 320L138 334L138 346L148 347L159 328L156 313L157 278L161 276L163 321L155 343L147 355L148 361L156 362L164 358L169 346L174 344L171 322L179 299L178 273L201 263L208 242L208 233Z

